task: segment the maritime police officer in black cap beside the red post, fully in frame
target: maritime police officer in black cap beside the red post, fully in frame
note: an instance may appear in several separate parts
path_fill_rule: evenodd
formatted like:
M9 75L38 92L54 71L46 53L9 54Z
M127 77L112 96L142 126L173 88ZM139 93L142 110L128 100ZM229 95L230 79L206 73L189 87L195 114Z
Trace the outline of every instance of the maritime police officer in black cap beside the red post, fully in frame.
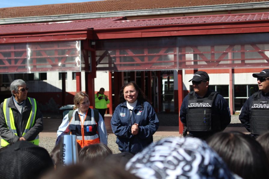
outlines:
M205 71L197 71L190 81L193 91L183 99L180 120L187 126L188 136L206 139L231 122L230 108L218 92L208 88L209 76Z

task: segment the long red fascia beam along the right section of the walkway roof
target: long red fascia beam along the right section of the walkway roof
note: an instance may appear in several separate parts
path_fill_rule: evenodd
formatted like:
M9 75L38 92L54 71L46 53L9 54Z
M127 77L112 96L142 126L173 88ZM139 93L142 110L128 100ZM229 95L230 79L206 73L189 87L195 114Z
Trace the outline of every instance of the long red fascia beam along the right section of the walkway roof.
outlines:
M268 32L268 21L204 23L204 24L174 24L163 26L147 26L125 29L95 29L94 39L143 38L182 35L236 34Z

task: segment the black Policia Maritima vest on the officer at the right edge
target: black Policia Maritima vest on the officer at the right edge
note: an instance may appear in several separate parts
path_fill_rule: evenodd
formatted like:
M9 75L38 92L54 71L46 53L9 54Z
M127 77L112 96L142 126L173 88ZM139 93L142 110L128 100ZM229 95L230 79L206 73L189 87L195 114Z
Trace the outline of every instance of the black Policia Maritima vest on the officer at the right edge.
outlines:
M253 94L250 116L250 132L262 134L269 131L269 101L260 100L261 91Z

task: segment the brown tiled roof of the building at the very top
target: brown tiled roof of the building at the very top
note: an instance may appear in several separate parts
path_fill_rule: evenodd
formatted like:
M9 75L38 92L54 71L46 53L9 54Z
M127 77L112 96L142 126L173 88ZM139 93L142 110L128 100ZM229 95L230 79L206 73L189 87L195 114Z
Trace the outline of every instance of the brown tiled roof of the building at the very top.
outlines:
M66 3L39 6L0 8L0 19L15 17L52 16L96 12L130 11L159 8L179 8L211 5L267 2L264 0L109 0L81 3Z

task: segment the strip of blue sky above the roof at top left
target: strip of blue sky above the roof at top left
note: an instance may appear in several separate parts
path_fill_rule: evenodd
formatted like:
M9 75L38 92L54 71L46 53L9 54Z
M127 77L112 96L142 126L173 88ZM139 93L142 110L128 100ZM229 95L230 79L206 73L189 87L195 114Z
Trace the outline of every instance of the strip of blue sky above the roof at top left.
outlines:
M34 6L45 4L61 4L72 2L89 2L98 0L0 0L0 8L18 7L18 6Z

